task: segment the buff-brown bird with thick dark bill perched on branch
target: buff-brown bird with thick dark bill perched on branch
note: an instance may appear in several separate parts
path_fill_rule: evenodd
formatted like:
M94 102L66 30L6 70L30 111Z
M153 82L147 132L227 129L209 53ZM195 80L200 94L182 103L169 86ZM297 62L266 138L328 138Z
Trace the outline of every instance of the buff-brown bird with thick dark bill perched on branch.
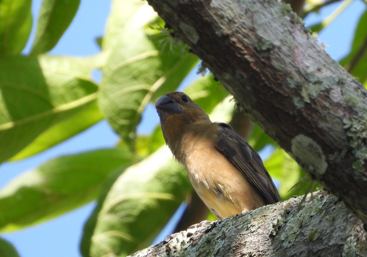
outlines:
M161 96L156 109L166 144L218 219L280 201L259 155L230 125L211 122L182 92Z

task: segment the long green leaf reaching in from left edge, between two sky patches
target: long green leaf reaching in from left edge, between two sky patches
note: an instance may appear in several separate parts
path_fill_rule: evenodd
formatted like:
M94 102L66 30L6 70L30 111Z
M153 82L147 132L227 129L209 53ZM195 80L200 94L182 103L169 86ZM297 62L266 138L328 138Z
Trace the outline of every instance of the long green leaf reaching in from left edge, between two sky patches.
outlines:
M105 149L59 157L19 175L0 190L0 231L31 226L86 204L113 170L131 163L126 148Z

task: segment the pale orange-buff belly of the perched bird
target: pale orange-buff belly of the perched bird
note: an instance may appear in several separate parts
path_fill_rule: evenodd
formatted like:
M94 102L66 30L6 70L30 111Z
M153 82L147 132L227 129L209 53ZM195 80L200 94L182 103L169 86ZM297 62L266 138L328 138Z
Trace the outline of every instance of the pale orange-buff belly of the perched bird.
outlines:
M186 156L190 182L218 219L264 206L264 200L244 175L216 149L204 147Z

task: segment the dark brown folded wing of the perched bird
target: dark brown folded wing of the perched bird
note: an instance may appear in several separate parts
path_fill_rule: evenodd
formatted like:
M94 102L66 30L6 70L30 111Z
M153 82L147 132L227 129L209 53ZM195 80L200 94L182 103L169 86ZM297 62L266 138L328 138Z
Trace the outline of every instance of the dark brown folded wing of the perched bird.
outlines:
M259 191L265 204L281 201L273 180L266 171L259 154L226 123L219 125L219 141L216 148L250 181Z

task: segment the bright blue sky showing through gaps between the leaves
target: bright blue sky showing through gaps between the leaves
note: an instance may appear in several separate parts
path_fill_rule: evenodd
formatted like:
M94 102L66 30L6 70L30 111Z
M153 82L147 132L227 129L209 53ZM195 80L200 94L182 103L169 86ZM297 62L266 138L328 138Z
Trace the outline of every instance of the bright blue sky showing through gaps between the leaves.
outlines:
M82 0L74 21L57 46L52 49L51 54L88 56L98 53L99 48L95 43L95 38L103 35L105 22L110 11L110 2L110 0ZM37 18L40 4L41 0L33 0L32 2L34 19ZM320 14L310 15L305 21L306 25L321 21L322 17L329 15L336 6L337 4L331 5ZM366 5L362 1L354 1L326 30L319 34L320 42L328 45L326 51L335 60L341 59L348 53L356 21L365 10ZM33 36L31 36L31 40L32 38ZM29 51L31 40L26 46L25 53ZM99 74L95 74L96 80L99 79L98 77ZM157 123L156 112L150 106L143 113L143 121L138 127L138 133L149 133ZM16 163L2 164L0 166L0 186L6 185L18 174L35 168L50 158L113 147L117 140L117 135L110 129L108 123L102 121L37 156ZM79 257L79 242L83 224L93 207L93 203L87 204L46 223L1 236L12 242L22 257Z

